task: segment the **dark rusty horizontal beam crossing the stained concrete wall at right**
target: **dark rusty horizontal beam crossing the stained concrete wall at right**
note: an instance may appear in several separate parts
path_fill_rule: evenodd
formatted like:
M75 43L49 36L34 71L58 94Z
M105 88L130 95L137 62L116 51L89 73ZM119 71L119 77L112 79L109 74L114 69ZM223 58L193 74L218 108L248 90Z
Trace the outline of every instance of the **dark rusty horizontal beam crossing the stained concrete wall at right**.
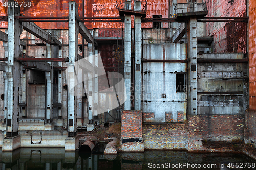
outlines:
M198 63L248 63L249 59L216 59L216 58L197 58Z

